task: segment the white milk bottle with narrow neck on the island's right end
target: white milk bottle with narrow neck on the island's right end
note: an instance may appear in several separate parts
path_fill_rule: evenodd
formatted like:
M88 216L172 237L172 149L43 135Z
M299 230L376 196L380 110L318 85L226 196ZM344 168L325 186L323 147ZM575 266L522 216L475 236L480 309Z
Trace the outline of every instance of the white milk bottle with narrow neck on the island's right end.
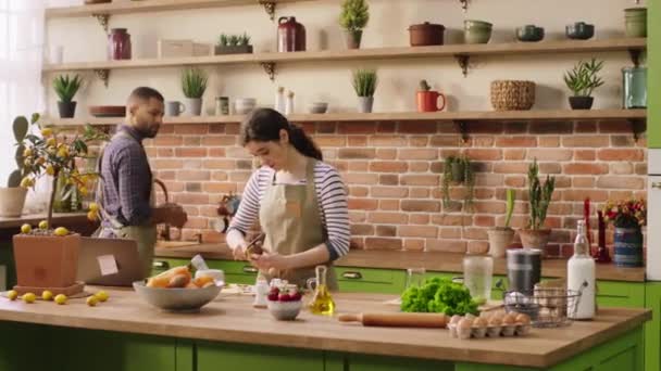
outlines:
M572 318L587 320L595 317L595 260L589 255L590 246L585 233L585 221L578 220L577 226L574 255L566 264L566 284L569 290L583 292L576 314Z

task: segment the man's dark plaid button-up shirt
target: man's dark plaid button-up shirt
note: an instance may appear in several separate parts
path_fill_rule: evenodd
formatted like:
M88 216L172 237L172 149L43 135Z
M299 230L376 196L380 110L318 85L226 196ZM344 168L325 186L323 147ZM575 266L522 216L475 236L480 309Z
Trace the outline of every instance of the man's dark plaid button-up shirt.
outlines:
M97 197L105 214L123 226L139 226L151 218L151 168L142 139L137 130L122 125L101 158L103 195ZM111 227L108 222L103 226Z

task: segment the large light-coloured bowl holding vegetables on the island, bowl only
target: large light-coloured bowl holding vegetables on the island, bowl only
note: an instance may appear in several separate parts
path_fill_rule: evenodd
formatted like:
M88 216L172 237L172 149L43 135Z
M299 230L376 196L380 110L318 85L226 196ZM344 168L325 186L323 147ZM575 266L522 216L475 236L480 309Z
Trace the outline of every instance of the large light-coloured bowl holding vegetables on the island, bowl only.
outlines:
M148 304L172 311L199 311L222 290L221 286L213 284L202 289L147 287L144 281L135 281L133 287L138 296Z

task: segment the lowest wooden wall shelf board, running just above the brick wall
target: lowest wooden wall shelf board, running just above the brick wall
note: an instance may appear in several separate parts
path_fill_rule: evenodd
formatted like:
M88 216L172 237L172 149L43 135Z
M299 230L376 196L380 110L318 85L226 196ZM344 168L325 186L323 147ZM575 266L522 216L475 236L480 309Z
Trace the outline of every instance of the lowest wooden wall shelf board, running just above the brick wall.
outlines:
M164 124L230 124L240 123L245 116L197 116L197 117L165 117ZM477 120L610 120L610 119L645 119L646 110L536 110L536 111L476 111L476 112L437 112L437 113L328 113L328 114L296 114L288 118L294 123L322 123L322 121L410 121L410 120L438 120L438 121L477 121ZM116 125L123 118L70 118L46 119L45 124L53 126Z

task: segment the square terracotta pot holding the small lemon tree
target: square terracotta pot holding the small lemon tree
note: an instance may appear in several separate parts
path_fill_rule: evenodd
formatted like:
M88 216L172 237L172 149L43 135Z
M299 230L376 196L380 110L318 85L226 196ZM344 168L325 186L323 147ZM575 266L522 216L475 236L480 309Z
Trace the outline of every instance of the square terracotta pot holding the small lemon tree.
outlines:
M79 234L15 234L13 245L17 286L50 290L76 283Z

